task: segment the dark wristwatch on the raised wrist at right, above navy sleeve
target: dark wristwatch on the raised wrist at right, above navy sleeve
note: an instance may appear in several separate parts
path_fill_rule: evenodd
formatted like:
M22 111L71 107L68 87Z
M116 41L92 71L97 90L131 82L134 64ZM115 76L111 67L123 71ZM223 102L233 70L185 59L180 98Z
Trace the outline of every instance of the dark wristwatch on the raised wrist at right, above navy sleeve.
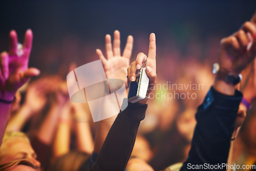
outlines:
M224 80L227 84L236 85L242 80L242 75L238 74L237 76L226 69L221 69L218 63L214 63L214 69L212 73L217 74L217 78Z

